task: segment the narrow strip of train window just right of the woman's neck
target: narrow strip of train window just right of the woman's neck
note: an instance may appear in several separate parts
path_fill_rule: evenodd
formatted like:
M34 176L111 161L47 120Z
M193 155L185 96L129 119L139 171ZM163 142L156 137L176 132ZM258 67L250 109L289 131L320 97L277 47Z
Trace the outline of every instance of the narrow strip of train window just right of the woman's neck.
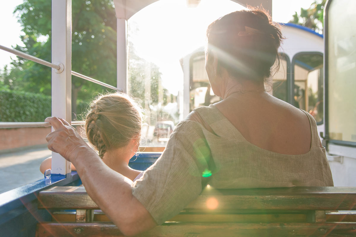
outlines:
M275 65L272 67L275 68ZM290 75L290 61L289 57L285 54L279 55L279 70L277 72L272 71L273 81L272 81L272 95L281 99L282 101L287 101L287 79ZM269 86L266 85L266 90L269 90Z

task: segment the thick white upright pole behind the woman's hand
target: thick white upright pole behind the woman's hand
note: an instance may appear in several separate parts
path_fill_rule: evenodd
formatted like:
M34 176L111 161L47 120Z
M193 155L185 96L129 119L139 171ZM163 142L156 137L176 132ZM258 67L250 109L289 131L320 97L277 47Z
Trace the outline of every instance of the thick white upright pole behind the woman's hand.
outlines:
M52 0L52 63L64 66L61 73L52 70L52 116L71 119L72 0ZM53 128L52 128L53 131ZM51 174L70 173L70 162L52 152Z

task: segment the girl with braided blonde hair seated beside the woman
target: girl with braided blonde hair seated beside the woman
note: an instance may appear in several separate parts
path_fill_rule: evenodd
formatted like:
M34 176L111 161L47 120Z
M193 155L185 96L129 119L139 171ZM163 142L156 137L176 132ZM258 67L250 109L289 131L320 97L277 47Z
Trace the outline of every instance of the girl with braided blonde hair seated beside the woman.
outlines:
M129 167L138 150L142 130L142 108L124 93L98 96L85 117L85 134L103 162L132 181L142 173ZM41 163L40 171L51 168L52 158ZM72 170L75 167L72 165Z

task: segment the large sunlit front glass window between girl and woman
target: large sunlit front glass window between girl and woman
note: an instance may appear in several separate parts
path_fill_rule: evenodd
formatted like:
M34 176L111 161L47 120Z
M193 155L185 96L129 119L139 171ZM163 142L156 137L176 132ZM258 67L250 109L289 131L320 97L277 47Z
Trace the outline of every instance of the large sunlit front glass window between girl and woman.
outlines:
M195 4L160 0L127 21L128 92L141 99L147 116L142 131L146 139L141 146L165 146L174 126L184 119L183 112L205 104L206 95L213 97L204 66L206 28L219 17L242 9L244 7L230 0ZM201 54L191 61L193 71L189 71L189 59L183 59L198 49ZM183 93L184 79L188 79L188 84L192 74L194 91L191 92L193 100L197 99L187 108L189 103L184 101L188 101L191 94Z

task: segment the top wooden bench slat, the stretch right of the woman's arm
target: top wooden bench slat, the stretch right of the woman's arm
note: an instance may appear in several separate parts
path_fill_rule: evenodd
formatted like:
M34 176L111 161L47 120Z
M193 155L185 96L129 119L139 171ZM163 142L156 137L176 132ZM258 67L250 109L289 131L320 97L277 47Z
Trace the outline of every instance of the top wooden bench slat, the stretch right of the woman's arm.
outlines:
M356 210L355 187L205 189L186 208L206 209L211 198L216 210Z

